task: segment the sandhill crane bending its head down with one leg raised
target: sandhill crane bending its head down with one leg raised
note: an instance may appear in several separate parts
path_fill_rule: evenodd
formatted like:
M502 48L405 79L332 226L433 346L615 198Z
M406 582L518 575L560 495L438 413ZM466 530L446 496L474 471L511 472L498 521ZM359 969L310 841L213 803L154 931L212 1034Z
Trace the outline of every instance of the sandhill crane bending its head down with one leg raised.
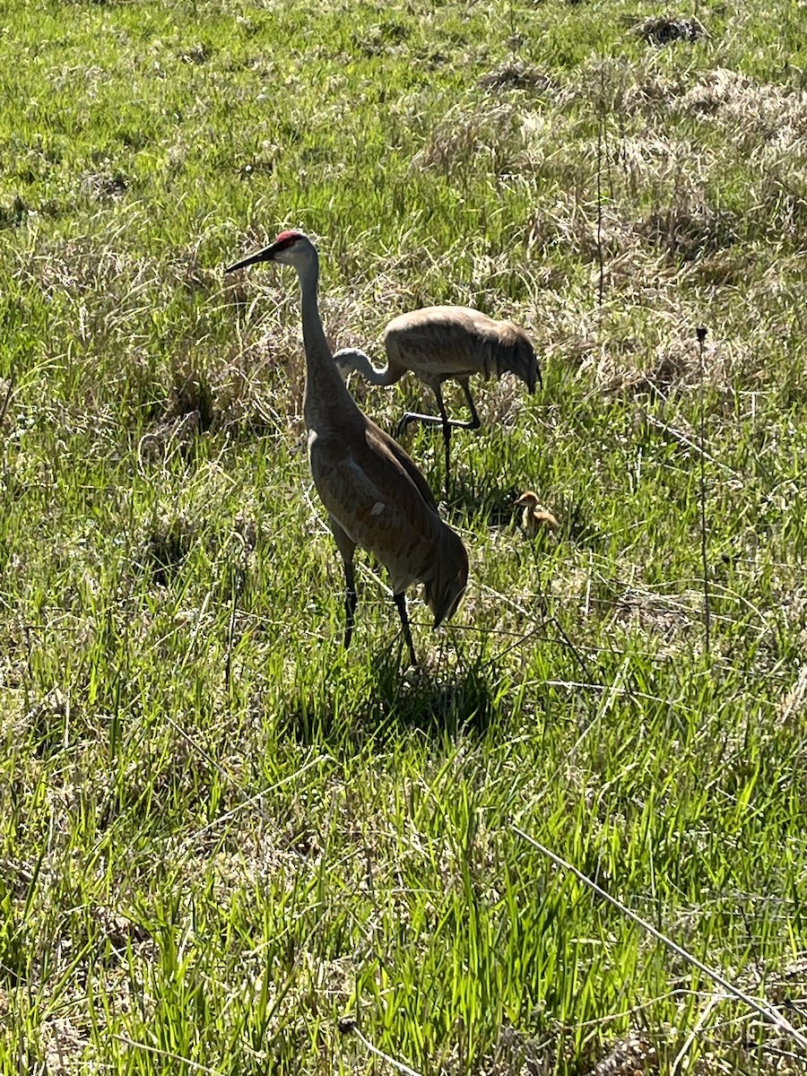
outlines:
M396 437L410 422L442 426L445 444L445 496L449 496L451 427L478 429L481 426L468 379L481 373L500 378L511 372L526 382L530 393L541 383L533 344L518 325L497 322L470 307L424 307L393 317L384 329L386 366L374 367L365 352L343 348L334 358L346 374L356 370L373 385L394 385L407 371L428 385L437 397L439 415L407 411L396 426ZM449 419L442 398L442 382L453 379L463 386L470 420Z

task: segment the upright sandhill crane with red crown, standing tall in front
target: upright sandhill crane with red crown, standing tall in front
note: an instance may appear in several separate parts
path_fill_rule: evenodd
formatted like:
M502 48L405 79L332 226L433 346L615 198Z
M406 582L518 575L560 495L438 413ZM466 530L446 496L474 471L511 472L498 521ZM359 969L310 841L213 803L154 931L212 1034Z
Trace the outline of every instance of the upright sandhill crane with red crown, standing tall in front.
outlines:
M407 453L370 422L348 392L317 310L320 259L314 244L300 231L282 231L269 246L225 271L258 261L292 266L300 279L306 349L302 411L311 473L344 566L344 646L351 641L358 601L353 554L360 546L390 572L414 665L406 590L415 581L423 583L435 627L448 620L468 581L465 546L440 519L426 480Z

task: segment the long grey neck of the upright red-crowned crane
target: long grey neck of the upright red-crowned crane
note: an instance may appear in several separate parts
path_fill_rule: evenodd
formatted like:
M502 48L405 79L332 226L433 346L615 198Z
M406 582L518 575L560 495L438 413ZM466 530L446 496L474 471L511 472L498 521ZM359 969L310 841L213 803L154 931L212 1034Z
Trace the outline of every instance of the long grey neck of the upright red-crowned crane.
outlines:
M346 416L352 411L358 412L358 408L337 369L320 317L320 263L315 252L309 263L299 267L298 272L306 349L303 416L309 429L320 429L332 425L337 415Z

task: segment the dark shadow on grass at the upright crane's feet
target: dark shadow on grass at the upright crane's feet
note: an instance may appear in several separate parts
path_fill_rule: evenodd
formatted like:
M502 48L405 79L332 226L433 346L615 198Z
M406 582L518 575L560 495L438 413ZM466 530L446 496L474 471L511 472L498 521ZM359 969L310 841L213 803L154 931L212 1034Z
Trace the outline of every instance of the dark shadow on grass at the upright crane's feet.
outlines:
M490 667L473 660L456 669L406 668L399 643L378 653L371 672L353 677L335 671L328 682L312 682L289 698L279 733L310 746L350 749L371 739L377 745L407 732L442 738L484 735L495 716L496 689ZM295 697L296 696L296 697ZM348 696L348 697L345 697Z

